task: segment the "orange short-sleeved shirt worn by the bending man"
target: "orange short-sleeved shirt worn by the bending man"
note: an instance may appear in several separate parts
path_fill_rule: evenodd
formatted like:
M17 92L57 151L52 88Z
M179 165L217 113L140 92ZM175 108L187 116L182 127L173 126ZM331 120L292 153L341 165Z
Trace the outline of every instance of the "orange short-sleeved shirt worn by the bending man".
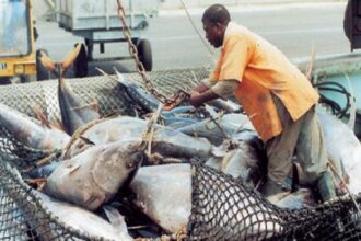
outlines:
M307 78L266 39L230 22L222 53L210 80L235 79L234 92L264 141L278 136L282 124L271 93L278 96L293 120L317 101L318 93Z

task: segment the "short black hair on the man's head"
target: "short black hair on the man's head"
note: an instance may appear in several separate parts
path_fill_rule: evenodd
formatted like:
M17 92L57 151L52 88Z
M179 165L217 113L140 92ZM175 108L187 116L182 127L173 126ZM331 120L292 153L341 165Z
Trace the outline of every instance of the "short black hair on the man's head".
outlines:
M212 4L206 9L201 21L208 23L228 24L231 21L230 12L222 4Z

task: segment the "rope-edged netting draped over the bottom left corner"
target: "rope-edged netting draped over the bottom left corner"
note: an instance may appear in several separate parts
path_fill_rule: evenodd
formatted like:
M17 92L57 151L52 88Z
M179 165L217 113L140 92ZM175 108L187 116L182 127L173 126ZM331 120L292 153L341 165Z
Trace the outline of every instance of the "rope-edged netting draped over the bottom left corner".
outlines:
M1 240L104 240L58 220L3 156L0 175Z

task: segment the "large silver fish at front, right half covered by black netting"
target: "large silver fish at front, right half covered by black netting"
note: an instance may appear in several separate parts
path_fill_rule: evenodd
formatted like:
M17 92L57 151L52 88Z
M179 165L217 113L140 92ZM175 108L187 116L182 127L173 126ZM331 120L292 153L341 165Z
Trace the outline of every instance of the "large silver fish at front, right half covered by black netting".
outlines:
M137 194L136 204L166 231L173 233L178 231L188 223L190 216L191 173L190 164L141 168L130 184ZM218 176L209 180L217 185L223 185L223 181ZM233 193L237 197L225 199L225 190L226 193ZM206 216L210 215L213 211L212 208L218 208L214 210L218 213L217 218L221 217L222 220L217 223L214 220L206 220L202 225L210 227L205 227L205 230L224 229L226 232L244 230L242 233L235 233L240 240L252 240L256 236L259 239L266 239L281 233L283 227L280 225L278 214L270 213L266 206L263 206L260 197L251 195L246 190L238 190L224 183L224 186L219 186L219 190L210 188L206 193L207 197L201 198L206 209L199 210L199 215L202 211ZM236 229L225 230L223 223Z

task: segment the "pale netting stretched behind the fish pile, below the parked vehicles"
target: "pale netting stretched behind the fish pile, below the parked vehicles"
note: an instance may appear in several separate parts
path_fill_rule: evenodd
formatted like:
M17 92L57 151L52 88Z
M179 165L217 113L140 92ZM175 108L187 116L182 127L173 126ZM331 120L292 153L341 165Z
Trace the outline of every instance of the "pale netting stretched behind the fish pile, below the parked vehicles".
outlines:
M208 76L208 71L205 68L164 70L149 72L148 76L158 91L172 96L177 90L189 91ZM125 73L124 77L142 85L142 79L138 73ZM97 102L101 116L114 113L135 114L132 103L127 100L124 88L108 77L67 79L67 82L85 103ZM59 122L57 91L57 80L3 85L0 87L0 102L32 117L35 117L34 106L39 106L50 122Z

